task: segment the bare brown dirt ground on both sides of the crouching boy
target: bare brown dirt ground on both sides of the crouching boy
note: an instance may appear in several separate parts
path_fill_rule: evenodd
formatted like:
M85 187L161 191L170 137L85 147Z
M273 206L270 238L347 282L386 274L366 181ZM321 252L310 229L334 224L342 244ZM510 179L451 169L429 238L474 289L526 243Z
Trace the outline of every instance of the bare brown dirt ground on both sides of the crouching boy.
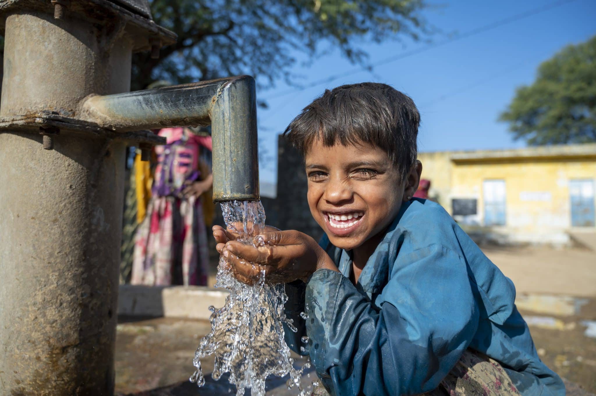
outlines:
M516 284L517 293L554 294L586 300L578 315L552 316L523 311L541 359L570 382L596 394L596 338L585 335L585 320L596 320L596 252L549 247L483 247ZM215 257L216 258L216 257ZM215 275L215 272L214 274ZM215 279L212 279L212 282ZM116 392L132 394L188 381L192 360L209 323L187 319L119 318L116 345ZM209 373L212 363L204 362ZM311 377L314 374L311 375ZM209 376L206 376L209 380ZM305 384L311 381L305 376ZM293 395L283 381L269 386L275 395ZM224 381L196 389L178 386L188 395L234 394ZM169 394L169 393L168 393ZM172 393L174 394L174 393ZM268 392L269 394L269 392Z

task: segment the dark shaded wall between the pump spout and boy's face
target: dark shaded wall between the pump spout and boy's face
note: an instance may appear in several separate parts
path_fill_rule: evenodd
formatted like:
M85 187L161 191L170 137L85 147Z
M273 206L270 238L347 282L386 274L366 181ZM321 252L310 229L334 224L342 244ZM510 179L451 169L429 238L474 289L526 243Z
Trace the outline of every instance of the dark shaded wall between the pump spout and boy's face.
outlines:
M306 201L307 189L302 155L280 135L277 150L277 198L261 199L267 224L281 230L298 230L318 241L323 231L311 216Z

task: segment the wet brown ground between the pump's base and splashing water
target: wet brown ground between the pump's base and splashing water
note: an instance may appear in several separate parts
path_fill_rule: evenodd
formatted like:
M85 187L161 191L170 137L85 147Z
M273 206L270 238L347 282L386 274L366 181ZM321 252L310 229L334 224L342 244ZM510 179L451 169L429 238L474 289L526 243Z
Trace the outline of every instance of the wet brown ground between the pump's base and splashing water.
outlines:
M201 388L188 382L194 372L193 357L198 342L209 330L207 320L119 318L116 338L117 396L235 395L235 387L225 376L213 381L210 375L205 375L206 384ZM302 366L304 360L301 357L294 356L294 359L297 366ZM201 360L201 366L203 373L210 373L213 360ZM312 369L308 370L302 385L306 387L315 379ZM296 389L287 389L286 381L287 378L271 378L267 394L297 395Z

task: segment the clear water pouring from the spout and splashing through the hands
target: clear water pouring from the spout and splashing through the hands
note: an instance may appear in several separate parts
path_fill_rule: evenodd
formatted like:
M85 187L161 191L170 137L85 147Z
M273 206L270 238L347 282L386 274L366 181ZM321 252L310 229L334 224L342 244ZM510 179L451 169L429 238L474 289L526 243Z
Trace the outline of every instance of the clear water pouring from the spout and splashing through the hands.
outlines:
M265 227L265 210L260 201L224 202L222 211L228 230L240 234L238 241L254 244L253 237ZM262 243L256 241L257 245ZM290 375L288 387L297 386L300 395L306 394L300 376L310 363L295 369L290 348L284 341L282 323L296 331L292 320L285 318L284 303L288 297L284 284L265 282L264 270L254 285L243 284L232 276L226 260L220 257L215 287L225 287L230 293L224 307L210 307L211 332L198 345L193 360L197 370L190 381L204 385L201 359L214 355L212 378L217 381L229 372L229 382L236 385L237 396L244 395L245 388L250 388L254 396L264 396L265 379L269 375L287 374Z

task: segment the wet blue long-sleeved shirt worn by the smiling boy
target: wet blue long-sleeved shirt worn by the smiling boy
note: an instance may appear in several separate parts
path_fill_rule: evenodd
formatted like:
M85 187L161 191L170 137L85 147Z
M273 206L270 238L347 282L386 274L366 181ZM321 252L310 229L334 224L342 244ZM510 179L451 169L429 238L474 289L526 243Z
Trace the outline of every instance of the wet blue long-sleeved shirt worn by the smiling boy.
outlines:
M319 270L286 285L298 332L285 327L285 335L297 353L306 345L331 394L431 391L468 347L501 363L523 396L565 394L536 353L513 282L440 205L404 203L356 285L350 253L326 236L321 246L341 274Z

